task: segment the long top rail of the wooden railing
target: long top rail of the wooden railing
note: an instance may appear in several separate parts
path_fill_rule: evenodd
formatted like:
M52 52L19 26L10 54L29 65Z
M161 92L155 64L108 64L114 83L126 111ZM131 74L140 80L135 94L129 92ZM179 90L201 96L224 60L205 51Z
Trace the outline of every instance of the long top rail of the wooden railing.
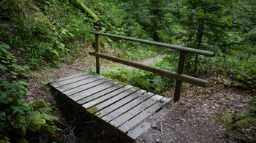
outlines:
M132 37L128 37L128 36L120 36L120 35L115 35L115 34L106 34L106 33L102 33L102 32L96 32L96 31L91 31L91 34L97 34L97 35L102 35L102 36L110 36L110 37L114 37L114 38L119 38L119 39L126 39L129 41L134 41L134 42L140 42L140 43L145 43L148 45L155 45L155 46L159 46L159 47L167 47L173 50L180 50L180 51L184 51L187 53L196 53L196 54L200 54L200 55L206 55L209 57L213 57L215 55L215 53L213 52L209 52L206 50L197 50L197 49L193 49L190 47L181 47L181 46L177 46L177 45L168 45L165 43L160 43L160 42L153 42L153 41L149 41L149 40L145 40L145 39L136 39L136 38L132 38Z

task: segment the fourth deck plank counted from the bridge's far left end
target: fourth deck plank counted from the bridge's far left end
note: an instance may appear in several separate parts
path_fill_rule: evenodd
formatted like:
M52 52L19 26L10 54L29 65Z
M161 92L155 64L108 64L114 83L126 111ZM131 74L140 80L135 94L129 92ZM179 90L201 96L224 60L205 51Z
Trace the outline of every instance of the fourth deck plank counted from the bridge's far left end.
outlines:
M102 80L97 80L97 81L91 82L89 84L82 85L78 88L72 88L71 90L64 91L63 93L66 94L67 96L71 96L75 93L79 93L80 91L83 91L83 90L86 90L86 89L89 89L89 88L93 88L94 86L100 85L100 84L108 82L108 81L110 81L110 79L105 78L105 79L102 79Z

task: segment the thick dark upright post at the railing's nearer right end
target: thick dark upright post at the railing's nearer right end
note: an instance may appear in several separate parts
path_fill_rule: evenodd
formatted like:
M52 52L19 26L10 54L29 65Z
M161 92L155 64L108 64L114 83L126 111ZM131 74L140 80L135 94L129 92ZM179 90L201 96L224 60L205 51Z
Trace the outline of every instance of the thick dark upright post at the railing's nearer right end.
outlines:
M186 52L181 51L179 55L179 61L178 61L178 74L183 74L184 72L184 66L186 61ZM179 101L181 97L181 85L182 82L180 80L176 80L176 86L175 86L175 93L174 93L174 101Z

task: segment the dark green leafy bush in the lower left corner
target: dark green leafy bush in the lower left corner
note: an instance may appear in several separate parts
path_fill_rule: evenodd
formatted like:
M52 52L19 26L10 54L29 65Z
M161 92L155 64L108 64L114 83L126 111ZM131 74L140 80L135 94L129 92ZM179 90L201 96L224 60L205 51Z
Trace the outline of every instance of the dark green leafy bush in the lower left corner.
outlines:
M17 137L22 139L26 131L38 131L41 126L53 127L53 120L57 117L50 115L52 109L42 99L36 99L27 104L23 96L27 93L25 82L7 82L0 79L0 139ZM38 103L38 104L37 104Z

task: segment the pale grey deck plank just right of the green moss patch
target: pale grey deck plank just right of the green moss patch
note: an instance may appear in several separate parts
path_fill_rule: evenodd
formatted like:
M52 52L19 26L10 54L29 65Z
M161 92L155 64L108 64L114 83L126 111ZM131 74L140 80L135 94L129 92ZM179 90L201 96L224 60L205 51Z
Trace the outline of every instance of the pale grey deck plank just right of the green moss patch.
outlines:
M100 114L99 117L103 117L103 116L107 115L108 113L112 112L113 110L124 106L124 104L129 103L133 99L138 98L138 97L144 95L145 93L146 93L146 90L138 90L137 92L132 93L131 95L129 95L125 98L122 98L120 101L117 101L116 103L110 105L109 107L106 107L105 109L102 109L101 111L99 111L99 113L98 113L98 114ZM108 117L104 117L102 119L103 120L110 120L110 119L108 119Z

